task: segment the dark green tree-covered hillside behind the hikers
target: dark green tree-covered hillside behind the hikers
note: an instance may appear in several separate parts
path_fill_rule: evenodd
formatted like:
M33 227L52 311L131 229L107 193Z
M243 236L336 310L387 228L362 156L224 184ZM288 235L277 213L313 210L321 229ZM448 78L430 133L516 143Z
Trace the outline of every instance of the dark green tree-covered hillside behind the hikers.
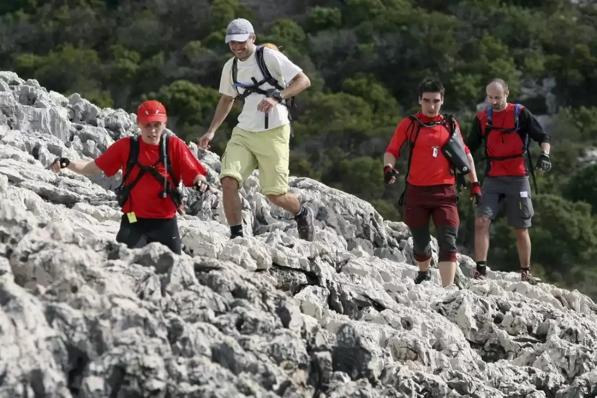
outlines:
M533 266L542 277L597 295L597 11L566 0L346 0L312 7L259 8L238 0L5 0L0 63L65 95L134 112L156 98L184 140L208 128L220 98L224 43L236 17L253 21L257 42L273 42L309 75L297 96L290 169L368 200L402 219L404 181L386 186L381 157L400 119L418 109L421 79L446 88L444 112L464 135L485 84L506 79L510 102L525 104L552 137L553 168L538 173L531 229ZM315 2L303 2L303 4ZM238 104L216 134L221 155ZM537 159L540 148L531 145ZM482 152L479 151L479 152ZM476 158L481 153L478 153ZM406 171L407 149L396 168ZM476 161L479 177L485 163ZM458 242L470 253L474 212L460 193ZM515 270L515 237L503 218L492 227L490 266ZM500 265L501 264L501 265Z

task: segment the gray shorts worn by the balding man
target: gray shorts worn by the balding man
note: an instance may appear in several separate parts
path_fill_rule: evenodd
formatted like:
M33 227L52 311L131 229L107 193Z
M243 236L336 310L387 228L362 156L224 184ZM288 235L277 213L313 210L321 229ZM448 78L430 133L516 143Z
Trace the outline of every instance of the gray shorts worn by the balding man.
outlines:
M535 212L528 177L487 177L481 187L481 195L476 217L494 220L505 200L507 224L514 228L531 226Z

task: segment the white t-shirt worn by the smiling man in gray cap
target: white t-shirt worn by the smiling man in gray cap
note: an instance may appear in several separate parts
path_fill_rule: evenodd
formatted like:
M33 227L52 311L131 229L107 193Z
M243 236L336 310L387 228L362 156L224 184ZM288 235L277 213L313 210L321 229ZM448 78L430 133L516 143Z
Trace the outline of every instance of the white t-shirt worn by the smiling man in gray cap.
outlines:
M222 75L220 79L220 93L229 95L230 97L236 97L238 93L244 92L244 88L239 87L238 91L232 84L232 61L234 58L230 58L224 64L222 69ZM271 48L263 48L263 60L267 65L270 75L278 81L278 84L282 87L287 87L288 83L301 72L302 69L292 63L288 57L279 51L272 50ZM251 78L255 78L258 82L263 80L263 75L257 65L257 59L255 53L251 54L246 60L236 61L236 67L238 72L236 74L236 81L242 84L251 85L253 81ZM259 86L261 90L267 91L270 88L275 88L268 83L264 83ZM248 95L245 98L245 105L242 108L241 115L238 116L238 127L246 131L264 131L265 128L265 113L257 110L257 105L266 98L263 94ZM282 125L290 123L288 119L288 109L284 104L276 104L275 107L269 112L269 121L267 129L280 127Z

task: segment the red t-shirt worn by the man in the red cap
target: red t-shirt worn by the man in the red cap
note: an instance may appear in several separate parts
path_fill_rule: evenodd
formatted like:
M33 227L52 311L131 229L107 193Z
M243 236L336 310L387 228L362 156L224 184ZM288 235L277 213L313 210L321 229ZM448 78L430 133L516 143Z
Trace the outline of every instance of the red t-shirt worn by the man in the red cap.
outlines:
M96 159L96 165L103 171L107 177L112 177L122 169L127 168L128 154L130 152L130 138L125 137L112 144L106 152ZM168 143L168 160L172 165L174 178L182 181L184 186L190 187L198 174L206 175L204 166L195 158L189 147L179 138L170 136ZM143 166L151 166L159 160L159 145L150 145L139 137L139 158L137 161ZM159 162L155 169L161 174L166 175L164 163ZM139 174L139 167L134 167L128 176L127 184L131 183ZM170 184L174 183L168 177ZM176 188L176 186L174 186ZM176 214L177 208L168 195L166 198L158 196L164 190L164 181L158 181L152 174L146 172L139 180L136 186L131 190L127 202L122 208L122 212L129 213L133 211L138 218L172 218Z

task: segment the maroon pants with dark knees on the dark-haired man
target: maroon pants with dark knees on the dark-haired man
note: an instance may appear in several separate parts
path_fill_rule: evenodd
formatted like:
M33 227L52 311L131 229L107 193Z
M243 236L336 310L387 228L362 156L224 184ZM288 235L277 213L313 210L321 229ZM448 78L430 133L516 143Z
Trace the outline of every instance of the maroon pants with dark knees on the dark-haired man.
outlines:
M456 261L458 236L457 196L453 185L408 185L404 202L404 222L413 235L414 258L431 258L429 220L438 232L439 261Z

